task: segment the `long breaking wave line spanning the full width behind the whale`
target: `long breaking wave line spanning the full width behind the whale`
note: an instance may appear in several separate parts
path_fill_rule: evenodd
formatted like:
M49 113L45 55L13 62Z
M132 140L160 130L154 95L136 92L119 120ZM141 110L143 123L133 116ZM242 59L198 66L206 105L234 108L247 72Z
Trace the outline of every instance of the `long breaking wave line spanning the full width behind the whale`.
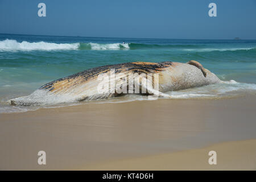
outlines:
M136 50L136 49L167 49L182 50L188 52L212 52L212 51L255 51L251 48L202 48L204 45L162 45L141 43L49 43L49 42L17 42L16 40L1 40L0 51L54 51L54 50Z

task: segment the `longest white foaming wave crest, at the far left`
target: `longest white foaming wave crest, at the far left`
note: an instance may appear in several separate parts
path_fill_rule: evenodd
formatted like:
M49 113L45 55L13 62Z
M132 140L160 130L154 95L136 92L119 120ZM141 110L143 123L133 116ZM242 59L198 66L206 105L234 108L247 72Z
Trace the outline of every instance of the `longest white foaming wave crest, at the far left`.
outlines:
M2 51L32 51L32 50L63 50L63 49L78 49L80 46L79 43L72 44L57 44L57 43L48 43L48 42L26 42L23 41L21 43L16 40L2 40L0 41L0 50Z

